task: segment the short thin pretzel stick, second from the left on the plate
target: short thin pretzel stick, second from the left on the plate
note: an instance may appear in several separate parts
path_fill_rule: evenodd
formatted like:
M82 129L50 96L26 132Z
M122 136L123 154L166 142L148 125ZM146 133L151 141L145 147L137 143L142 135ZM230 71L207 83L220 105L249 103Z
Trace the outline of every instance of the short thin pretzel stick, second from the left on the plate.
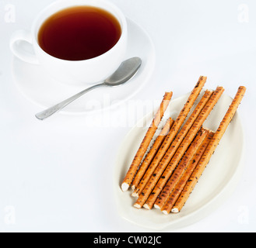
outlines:
M141 181L143 175L145 174L149 164L152 162L153 158L155 157L156 153L160 149L160 146L163 143L163 140L166 138L167 134L170 132L171 127L174 125L173 119L167 119L165 126L159 136L157 136L156 141L153 143L153 146L150 148L149 153L146 155L146 158L143 160L142 165L139 167L139 171L135 175L134 180L132 181L132 189L138 186L139 182Z

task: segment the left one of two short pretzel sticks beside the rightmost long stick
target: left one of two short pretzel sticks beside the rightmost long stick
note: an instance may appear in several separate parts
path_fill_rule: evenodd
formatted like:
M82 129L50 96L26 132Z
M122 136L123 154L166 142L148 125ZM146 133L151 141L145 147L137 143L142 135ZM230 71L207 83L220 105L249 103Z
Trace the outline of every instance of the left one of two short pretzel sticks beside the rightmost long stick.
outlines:
M198 150L198 147L202 144L202 142L205 140L206 136L209 134L209 129L200 129L198 132L198 135L195 136L195 140L191 143L189 146L187 152L184 154L184 157L182 158L180 164L175 169L174 173L171 175L170 180L167 182L167 184L164 186L163 191L160 193L159 198L157 198L154 206L155 208L163 208L163 205L165 202L167 202L167 199L169 198L170 194L174 190L176 184L181 179L182 175L184 174L184 171L187 170L188 164L190 163L191 159L194 157L195 153ZM147 203L144 205L145 208L153 208L153 205L147 205Z

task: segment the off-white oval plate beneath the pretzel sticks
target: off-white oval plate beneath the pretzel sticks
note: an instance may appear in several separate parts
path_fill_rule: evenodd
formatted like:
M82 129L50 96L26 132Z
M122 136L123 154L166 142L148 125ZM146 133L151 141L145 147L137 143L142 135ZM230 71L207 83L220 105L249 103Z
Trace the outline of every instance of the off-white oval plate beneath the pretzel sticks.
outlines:
M202 94L200 98L201 96ZM162 126L167 117L172 116L176 119L187 99L188 95L184 95L170 102L170 107L167 108L167 115L163 118ZM231 102L232 98L223 95L209 118L205 121L204 126L216 131ZM122 192L120 187L148 129L145 126L144 128L138 126L143 126L142 123L146 122L151 123L152 119L153 112L146 115L140 121L140 124L138 123L128 133L117 154L114 171L114 193L117 209L124 219L146 229L179 229L211 214L233 192L237 182L240 180L243 167L243 163L241 163L244 153L243 129L237 113L182 211L178 214L163 215L158 209L149 211L145 208L134 208L133 204L136 199L131 196L132 190Z

